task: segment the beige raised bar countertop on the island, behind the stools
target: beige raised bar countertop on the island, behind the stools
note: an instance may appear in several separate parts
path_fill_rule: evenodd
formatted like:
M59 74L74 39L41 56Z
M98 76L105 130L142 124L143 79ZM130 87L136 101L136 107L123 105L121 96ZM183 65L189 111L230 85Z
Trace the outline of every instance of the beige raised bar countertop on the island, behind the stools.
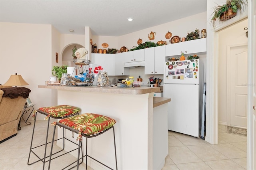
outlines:
M98 93L117 93L127 95L142 95L146 93L160 92L160 87L98 87L98 86L60 86L60 85L38 85L38 88L57 89L57 90L73 90L87 91Z

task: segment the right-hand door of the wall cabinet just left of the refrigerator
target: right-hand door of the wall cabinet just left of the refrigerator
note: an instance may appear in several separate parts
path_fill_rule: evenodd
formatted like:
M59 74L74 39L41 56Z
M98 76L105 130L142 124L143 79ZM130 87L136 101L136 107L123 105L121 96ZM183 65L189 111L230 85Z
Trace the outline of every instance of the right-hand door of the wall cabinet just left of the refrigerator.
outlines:
M165 46L155 47L155 72L154 74L164 74L164 63L165 63Z

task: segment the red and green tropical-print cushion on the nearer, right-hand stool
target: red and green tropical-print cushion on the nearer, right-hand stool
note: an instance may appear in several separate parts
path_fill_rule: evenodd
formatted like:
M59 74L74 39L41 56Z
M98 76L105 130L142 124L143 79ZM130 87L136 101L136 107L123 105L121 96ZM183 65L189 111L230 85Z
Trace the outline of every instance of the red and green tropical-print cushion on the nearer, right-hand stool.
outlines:
M107 116L94 113L84 113L81 115L62 119L59 121L59 123L78 130L78 138L79 140L82 140L82 133L87 136L91 136L93 134L97 135L100 132L103 132L104 130L112 127L116 123L116 121ZM52 125L56 125L56 122L52 123Z

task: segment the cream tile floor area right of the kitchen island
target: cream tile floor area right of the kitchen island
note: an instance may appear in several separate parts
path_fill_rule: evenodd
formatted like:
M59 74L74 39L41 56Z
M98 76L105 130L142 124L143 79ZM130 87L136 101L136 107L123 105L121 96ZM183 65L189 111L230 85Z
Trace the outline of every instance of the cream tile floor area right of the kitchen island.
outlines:
M218 144L169 131L169 152L162 170L245 170L246 136L219 125Z

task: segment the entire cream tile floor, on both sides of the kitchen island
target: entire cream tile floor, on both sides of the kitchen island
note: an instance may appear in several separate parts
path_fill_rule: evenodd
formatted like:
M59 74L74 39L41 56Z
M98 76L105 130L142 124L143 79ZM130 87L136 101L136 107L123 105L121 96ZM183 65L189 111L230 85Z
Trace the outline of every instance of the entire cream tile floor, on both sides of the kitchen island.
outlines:
M32 122L33 124L33 122ZM38 121L34 144L45 142L46 121ZM28 153L33 125L21 123L21 130L17 136L0 144L0 170L41 170L42 162L27 165ZM52 136L53 127L50 127L49 137ZM162 170L245 170L246 169L246 137L235 134L227 134L225 126L219 126L219 144L212 145L208 142L169 131L169 154L166 156L166 163ZM50 146L48 147L50 148ZM43 153L43 148L38 149ZM49 152L49 150L48 150ZM68 159L67 159L68 158ZM34 155L31 161L36 160ZM66 159L56 158L51 162L51 169L60 169L66 160L76 160L70 154ZM80 169L85 169L85 164L80 165ZM46 162L45 169L48 169ZM88 170L92 168L88 167Z

